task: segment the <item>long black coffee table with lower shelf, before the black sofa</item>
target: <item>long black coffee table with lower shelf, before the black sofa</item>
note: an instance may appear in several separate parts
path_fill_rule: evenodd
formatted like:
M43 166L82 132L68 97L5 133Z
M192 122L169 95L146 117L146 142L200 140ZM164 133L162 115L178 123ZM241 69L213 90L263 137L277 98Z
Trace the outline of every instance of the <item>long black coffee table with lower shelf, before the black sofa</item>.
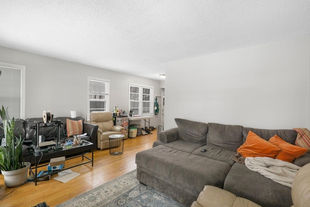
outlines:
M73 167L77 167L79 165L84 165L84 164L87 164L87 163L90 163L92 162L92 167L93 167L93 143L91 142L88 142L88 143L83 143L82 145L76 145L76 146L72 146L71 148L63 148L62 150L54 150L54 151L51 151L51 152L40 152L40 153L35 153L34 150L31 151L31 154L34 156L35 158L35 163L34 163L34 167L31 167L30 168L30 173L33 175L33 178L34 178L34 183L35 185L37 185L37 170L39 167L42 167L42 166L47 166L48 164L42 164L40 165L40 160L42 158L44 159L51 159L51 158L57 158L57 157L65 157L66 155L72 155L72 154L75 154L75 156L70 156L68 158L66 158L66 160L68 159L74 159L74 158L78 158L78 157L82 157L82 160L84 161L84 158L87 159L87 161L85 162L82 162L80 164L76 164L76 165L73 165L71 167L65 167L61 170L55 170L49 174L45 174L45 175L52 175L52 174L55 174L55 173L58 173L60 171L63 171L63 170L67 170L67 169L70 169L70 168L73 168ZM89 158L87 157L84 152L88 152L88 151L91 151L92 152L92 158ZM30 156L31 156L30 154ZM34 172L32 171L34 170Z

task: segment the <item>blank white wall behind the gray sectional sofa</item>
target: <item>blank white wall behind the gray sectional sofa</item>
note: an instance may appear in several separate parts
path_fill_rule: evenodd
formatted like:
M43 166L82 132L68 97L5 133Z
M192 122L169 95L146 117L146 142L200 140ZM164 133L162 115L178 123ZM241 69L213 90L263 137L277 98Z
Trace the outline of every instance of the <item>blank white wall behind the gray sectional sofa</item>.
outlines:
M310 128L309 69L309 35L167 63L165 129L176 117Z

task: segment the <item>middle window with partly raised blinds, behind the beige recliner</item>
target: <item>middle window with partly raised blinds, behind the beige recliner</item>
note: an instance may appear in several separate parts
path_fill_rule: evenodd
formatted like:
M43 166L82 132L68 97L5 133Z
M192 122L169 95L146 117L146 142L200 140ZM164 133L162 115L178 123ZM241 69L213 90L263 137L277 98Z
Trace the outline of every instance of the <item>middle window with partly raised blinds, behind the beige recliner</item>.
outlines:
M92 111L109 111L110 80L88 77L87 117Z

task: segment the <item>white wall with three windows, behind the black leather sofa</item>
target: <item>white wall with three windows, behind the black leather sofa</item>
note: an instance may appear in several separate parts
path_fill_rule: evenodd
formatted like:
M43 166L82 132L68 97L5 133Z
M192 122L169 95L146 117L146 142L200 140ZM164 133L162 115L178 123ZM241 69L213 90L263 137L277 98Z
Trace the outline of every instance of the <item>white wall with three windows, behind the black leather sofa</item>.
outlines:
M87 76L111 80L110 111L114 106L128 110L129 82L154 86L154 96L161 96L160 81L145 79L102 68L72 63L11 48L0 47L0 62L26 66L26 118L42 117L50 110L55 117L86 117ZM140 124L140 121L135 123ZM161 123L160 116L150 120ZM141 125L144 126L144 121Z

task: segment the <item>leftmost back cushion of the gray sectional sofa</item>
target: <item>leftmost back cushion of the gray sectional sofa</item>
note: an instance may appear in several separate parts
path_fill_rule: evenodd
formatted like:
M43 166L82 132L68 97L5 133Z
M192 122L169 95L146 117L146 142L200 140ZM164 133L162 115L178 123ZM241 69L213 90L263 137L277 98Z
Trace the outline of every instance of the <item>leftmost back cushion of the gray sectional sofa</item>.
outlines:
M186 119L175 118L178 126L179 139L191 143L206 144L208 125L202 122L194 122Z

